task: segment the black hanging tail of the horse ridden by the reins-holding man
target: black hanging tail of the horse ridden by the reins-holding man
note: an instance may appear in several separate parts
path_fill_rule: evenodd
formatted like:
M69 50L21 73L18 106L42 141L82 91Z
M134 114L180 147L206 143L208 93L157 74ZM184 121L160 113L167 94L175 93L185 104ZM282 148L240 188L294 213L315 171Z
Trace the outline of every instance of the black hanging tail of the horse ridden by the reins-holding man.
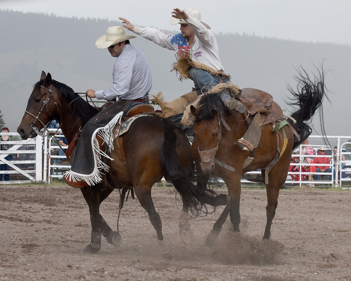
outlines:
M206 208L206 204L214 203L216 192L211 189L201 189L194 184L196 180L194 165L191 169L186 169L178 161L176 152L177 134L179 130L173 122L164 119L165 139L160 150L160 162L166 179L169 179L182 197L183 203L187 205L193 216L198 216L200 212L211 213Z

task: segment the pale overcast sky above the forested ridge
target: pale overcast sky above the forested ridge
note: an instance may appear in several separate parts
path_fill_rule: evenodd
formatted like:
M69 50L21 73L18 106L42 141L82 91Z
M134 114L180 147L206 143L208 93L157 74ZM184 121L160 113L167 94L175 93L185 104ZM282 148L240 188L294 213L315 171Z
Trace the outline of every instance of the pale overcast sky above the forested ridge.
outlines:
M260 37L351 45L349 0L0 0L0 9L108 20L125 17L134 25L161 30L175 29L168 23L173 8L190 7L201 12L202 21L214 33L246 32Z

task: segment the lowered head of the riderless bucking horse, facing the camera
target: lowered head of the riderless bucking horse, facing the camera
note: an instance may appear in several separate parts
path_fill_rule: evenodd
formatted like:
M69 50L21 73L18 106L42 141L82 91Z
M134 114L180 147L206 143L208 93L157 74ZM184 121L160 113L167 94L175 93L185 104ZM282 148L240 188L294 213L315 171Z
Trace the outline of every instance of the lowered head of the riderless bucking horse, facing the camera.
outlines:
M201 169L205 174L211 174L214 169L214 156L221 138L221 112L225 110L221 100L214 95L207 94L201 98L198 109L190 107L191 113L195 116L194 145L198 146Z

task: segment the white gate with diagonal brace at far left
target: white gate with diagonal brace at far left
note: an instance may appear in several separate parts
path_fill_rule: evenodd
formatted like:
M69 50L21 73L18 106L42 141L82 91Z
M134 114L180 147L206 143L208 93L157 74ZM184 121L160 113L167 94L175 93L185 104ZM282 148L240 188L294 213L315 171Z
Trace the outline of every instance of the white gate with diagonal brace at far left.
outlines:
M13 145L8 150L0 150L0 164L9 166L8 171L0 171L1 175L9 174L9 181L1 181L0 184L17 184L29 182L41 182L42 178L42 137L26 141L19 138L18 133L0 133L0 136L13 136L15 141L0 141L1 144ZM11 160L5 157L11 155ZM5 177L4 177L5 179Z

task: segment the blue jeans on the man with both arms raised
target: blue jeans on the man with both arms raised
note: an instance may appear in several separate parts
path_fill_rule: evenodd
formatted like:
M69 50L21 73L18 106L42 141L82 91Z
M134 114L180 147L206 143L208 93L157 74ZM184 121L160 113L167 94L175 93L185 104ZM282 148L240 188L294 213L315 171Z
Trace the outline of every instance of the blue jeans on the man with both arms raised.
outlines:
M213 86L218 85L221 79L223 78L222 75L211 75L207 71L195 67L190 68L189 75L194 80L195 91L197 92L198 96L200 96L202 92L205 93L208 90L210 90ZM222 80L223 83L227 83L228 81L230 81L229 78L225 78ZM226 94L224 93L224 91L221 92L220 97L223 100L223 102L230 99L229 93Z

